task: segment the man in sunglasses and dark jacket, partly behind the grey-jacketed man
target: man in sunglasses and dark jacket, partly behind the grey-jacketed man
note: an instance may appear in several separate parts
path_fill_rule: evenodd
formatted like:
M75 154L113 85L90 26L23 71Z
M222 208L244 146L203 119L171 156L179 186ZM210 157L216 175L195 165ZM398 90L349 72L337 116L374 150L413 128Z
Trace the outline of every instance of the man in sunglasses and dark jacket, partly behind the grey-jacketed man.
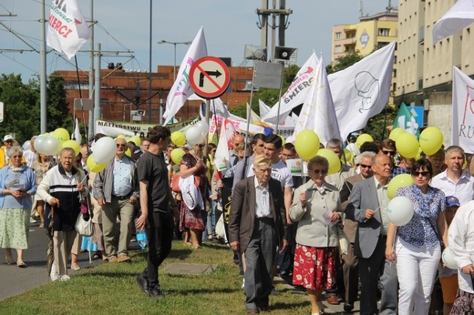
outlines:
M372 170L372 159L376 157L376 153L366 151L360 154L360 174L345 178L345 183L341 189L340 198L343 210L347 207L351 191L356 182L371 178L374 176ZM351 311L354 309L354 302L357 300L357 292L359 287L359 269L358 259L354 253L354 242L356 240L357 222L350 218L344 220L344 232L351 242L347 250L347 254L342 255L344 286L345 286L345 303L344 310Z

